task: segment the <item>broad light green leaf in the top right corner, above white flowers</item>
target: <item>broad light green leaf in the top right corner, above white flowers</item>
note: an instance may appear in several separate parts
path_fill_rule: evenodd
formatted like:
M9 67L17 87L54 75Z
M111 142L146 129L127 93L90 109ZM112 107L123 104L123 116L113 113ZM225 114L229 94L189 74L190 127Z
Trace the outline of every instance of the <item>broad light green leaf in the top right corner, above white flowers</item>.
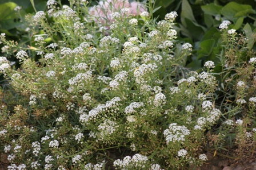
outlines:
M236 2L227 3L221 10L221 14L229 20L235 20L238 17L246 17L248 14L255 14L250 5L242 5Z

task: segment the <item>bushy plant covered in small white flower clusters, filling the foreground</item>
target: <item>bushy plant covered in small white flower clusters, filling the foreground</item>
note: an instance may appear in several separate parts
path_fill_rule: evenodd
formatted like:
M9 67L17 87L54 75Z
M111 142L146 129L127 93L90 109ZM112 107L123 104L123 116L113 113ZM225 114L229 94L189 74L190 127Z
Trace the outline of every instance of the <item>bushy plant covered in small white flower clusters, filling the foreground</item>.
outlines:
M222 20L217 61L190 71L193 45L177 41L178 14L157 22L154 5L50 0L26 16L33 47L0 35L22 64L0 57L10 83L0 115L9 169L186 169L207 150L254 151L251 42Z

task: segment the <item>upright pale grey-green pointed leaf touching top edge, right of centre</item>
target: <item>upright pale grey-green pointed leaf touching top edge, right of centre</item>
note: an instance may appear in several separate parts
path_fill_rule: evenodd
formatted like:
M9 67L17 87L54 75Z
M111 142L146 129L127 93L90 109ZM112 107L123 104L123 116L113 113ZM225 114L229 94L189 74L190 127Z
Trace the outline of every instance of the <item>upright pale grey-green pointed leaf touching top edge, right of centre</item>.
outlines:
M189 2L187 2L187 0L182 0L181 9L181 23L183 24L183 26L187 26L185 21L186 18L196 22L195 17L193 15L193 10L191 9L191 6L189 5Z

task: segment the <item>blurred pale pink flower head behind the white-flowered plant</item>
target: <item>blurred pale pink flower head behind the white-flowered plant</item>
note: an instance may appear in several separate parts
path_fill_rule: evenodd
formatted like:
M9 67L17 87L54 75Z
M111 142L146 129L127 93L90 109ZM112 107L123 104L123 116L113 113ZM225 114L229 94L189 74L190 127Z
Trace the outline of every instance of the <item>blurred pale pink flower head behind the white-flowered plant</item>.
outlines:
M140 15L142 12L147 11L146 6L139 2L131 2L128 0L105 0L99 1L99 5L91 7L89 13L96 18L95 22L105 23L113 22L111 14L118 12L121 9L127 8L130 14Z

